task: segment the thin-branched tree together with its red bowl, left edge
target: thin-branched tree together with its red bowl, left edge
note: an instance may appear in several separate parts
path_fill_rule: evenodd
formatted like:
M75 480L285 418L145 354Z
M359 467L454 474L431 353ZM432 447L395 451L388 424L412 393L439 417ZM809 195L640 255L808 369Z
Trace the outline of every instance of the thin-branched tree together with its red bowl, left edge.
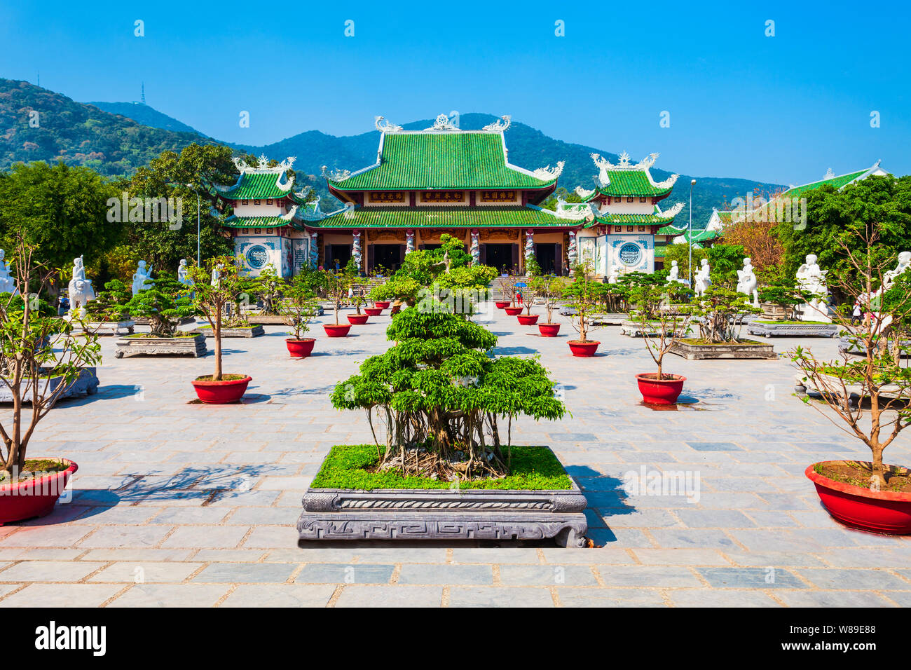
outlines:
M78 466L56 457L29 459L28 446L41 419L87 373L97 387L94 366L101 361L97 335L74 335L76 326L37 298L58 273L36 263L34 252L20 238L12 263L16 294L0 295L0 380L12 404L0 420L0 523L54 509Z

